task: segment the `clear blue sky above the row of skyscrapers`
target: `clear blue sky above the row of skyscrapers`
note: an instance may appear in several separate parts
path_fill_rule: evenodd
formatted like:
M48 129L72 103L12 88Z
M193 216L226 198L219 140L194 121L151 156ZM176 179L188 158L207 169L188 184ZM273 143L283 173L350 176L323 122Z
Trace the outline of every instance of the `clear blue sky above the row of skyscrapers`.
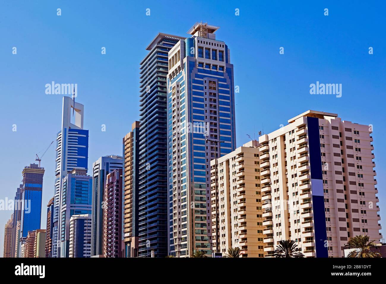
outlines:
M203 20L221 27L217 38L230 48L235 85L240 87L235 96L237 146L249 140L246 134L253 138L255 132L257 137L263 126L271 132L308 109L374 125L384 224L385 4L256 2L2 0L0 199L14 197L22 168L35 162L35 154L56 138L61 127L62 96L46 95L46 83L78 84L76 100L85 105L84 126L90 130L91 168L100 156L122 153L122 138L139 118L139 63L150 41L158 32L185 36ZM61 16L56 15L58 8ZM323 15L325 8L328 16ZM284 54L279 54L280 47ZM309 85L317 81L341 83L342 97L310 95ZM102 124L106 132L101 131ZM46 168L42 228L54 192L54 157L51 147L42 159ZM0 250L11 213L0 211Z

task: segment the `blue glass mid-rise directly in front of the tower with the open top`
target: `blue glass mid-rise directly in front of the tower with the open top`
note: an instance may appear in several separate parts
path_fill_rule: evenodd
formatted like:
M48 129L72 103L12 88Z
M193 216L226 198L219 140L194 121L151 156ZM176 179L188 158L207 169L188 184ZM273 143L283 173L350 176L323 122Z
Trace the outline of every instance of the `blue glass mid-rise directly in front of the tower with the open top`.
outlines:
M60 257L69 257L70 218L78 214L91 214L92 177L87 175L87 170L74 168L63 178L61 188L58 254Z

